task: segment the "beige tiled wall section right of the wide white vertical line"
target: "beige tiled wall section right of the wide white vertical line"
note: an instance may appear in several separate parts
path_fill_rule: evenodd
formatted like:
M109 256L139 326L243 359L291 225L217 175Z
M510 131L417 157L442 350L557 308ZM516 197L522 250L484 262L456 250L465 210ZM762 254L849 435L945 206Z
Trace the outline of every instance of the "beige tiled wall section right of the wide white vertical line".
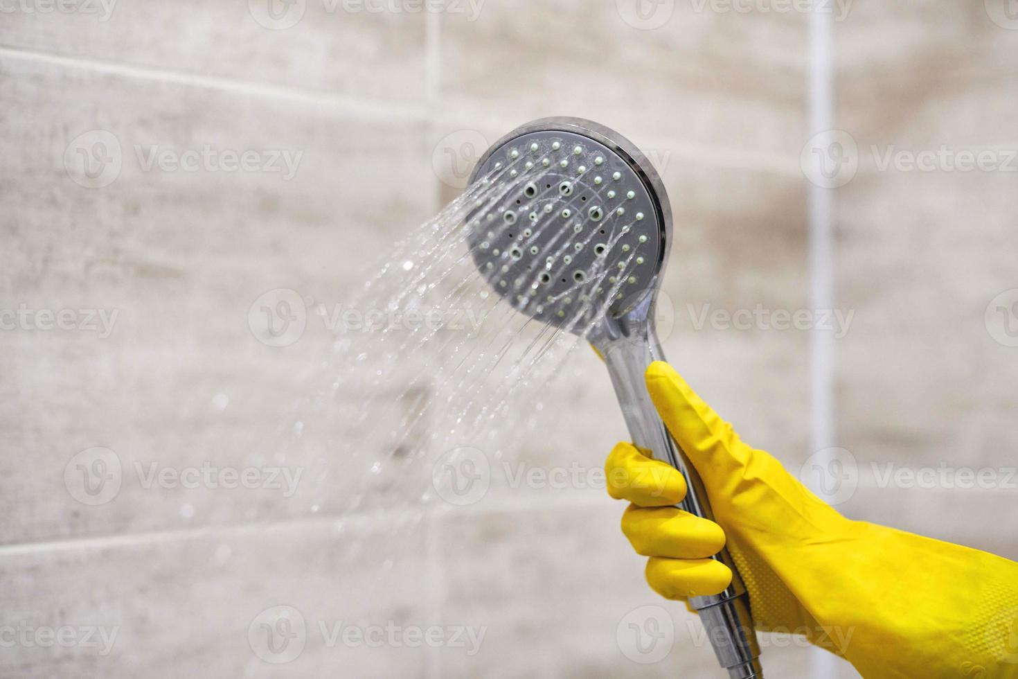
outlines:
M1018 287L1018 22L1005 5L858 3L835 29L838 127L858 148L838 195L837 296L855 321L837 398L859 465L847 511L1014 559L1018 293L998 295ZM944 160L908 164L923 152ZM980 153L984 169L959 165ZM889 468L937 475L902 488ZM983 488L965 487L966 468Z

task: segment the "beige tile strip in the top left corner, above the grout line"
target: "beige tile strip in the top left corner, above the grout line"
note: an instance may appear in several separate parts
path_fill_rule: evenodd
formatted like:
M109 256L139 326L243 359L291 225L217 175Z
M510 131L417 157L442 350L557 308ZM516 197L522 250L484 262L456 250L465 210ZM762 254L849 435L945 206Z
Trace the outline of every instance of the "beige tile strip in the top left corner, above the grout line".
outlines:
M0 43L53 54L419 106L427 82L423 13L367 3L233 0L105 3L105 12L6 13ZM268 18L272 5L279 23ZM90 6L101 8L100 3ZM400 5L401 6L401 5ZM347 11L349 7L353 11ZM259 22L294 25L272 30ZM333 8L330 11L329 8ZM357 9L360 8L360 9Z

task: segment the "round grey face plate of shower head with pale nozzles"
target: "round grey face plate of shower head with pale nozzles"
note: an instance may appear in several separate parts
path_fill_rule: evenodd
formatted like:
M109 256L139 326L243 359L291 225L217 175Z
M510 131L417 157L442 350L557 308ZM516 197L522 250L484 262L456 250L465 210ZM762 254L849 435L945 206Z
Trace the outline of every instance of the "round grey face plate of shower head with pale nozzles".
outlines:
M582 334L602 315L622 316L653 294L667 254L667 197L648 172L608 138L510 135L474 170L494 189L467 218L474 263L545 323Z

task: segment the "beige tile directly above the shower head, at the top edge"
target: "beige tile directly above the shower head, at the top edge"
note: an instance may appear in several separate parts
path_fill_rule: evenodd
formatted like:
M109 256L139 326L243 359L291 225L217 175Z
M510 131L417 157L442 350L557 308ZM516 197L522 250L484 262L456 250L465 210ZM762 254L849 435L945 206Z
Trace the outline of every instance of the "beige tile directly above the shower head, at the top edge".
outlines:
M545 0L526 12L491 1L476 21L446 16L443 106L508 124L570 115L628 135L797 155L804 17L663 3L673 5L651 31L607 0Z

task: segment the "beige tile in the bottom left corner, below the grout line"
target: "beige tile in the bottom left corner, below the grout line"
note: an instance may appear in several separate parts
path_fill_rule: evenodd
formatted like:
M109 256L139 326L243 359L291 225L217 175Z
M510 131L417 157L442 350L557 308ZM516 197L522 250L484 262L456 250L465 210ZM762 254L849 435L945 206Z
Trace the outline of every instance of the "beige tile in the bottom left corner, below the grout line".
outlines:
M367 647L332 636L337 625L438 624L431 589L420 586L430 577L427 535L413 520L390 520L383 531L312 521L8 548L0 553L9 585L2 623L69 626L81 643L18 642L0 667L24 677L315 677L337 668L351 676L436 676L428 670L431 648L388 639ZM281 606L299 611L303 632L294 623L297 636L277 636L273 654L260 623L274 624L272 609ZM105 630L112 644L88 645L90 627Z

